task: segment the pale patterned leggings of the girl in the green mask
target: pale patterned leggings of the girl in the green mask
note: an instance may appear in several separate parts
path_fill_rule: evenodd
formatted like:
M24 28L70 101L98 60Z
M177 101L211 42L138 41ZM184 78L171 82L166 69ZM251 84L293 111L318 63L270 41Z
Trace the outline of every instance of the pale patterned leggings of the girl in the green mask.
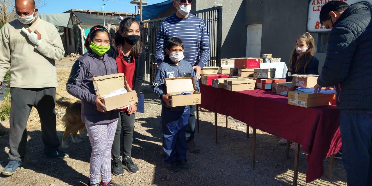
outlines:
M90 184L99 183L99 173L102 182L111 180L111 147L118 121L109 124L85 124L87 128L92 154L90 155Z

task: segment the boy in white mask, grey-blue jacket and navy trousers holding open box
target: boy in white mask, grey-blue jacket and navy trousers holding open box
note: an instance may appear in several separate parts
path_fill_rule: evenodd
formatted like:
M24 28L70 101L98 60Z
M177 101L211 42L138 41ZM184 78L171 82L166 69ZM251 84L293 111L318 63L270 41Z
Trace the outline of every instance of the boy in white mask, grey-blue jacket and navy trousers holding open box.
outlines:
M167 94L165 79L175 77L194 77L196 91L199 92L199 82L195 71L183 56L183 42L173 37L168 39L167 56L156 72L153 89L161 100L161 123L163 127L164 161L167 168L176 172L180 168L189 168L186 160L187 144L185 129L189 121L189 106L172 107L172 95Z

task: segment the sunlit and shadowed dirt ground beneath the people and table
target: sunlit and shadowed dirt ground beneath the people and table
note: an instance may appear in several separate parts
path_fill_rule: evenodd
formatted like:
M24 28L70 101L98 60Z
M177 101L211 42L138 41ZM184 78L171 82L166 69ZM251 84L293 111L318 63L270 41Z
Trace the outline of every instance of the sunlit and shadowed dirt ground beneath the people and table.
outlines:
M57 93L70 96L65 83L73 62L68 58L56 62L59 87ZM171 173L159 155L162 141L161 105L150 86L144 86L145 113L136 113L132 158L140 172L124 176L112 176L113 181L127 186L145 185L250 185L285 186L292 185L294 170L294 151L285 158L285 145L278 145L279 137L257 130L256 168L252 169L252 139L246 137L246 125L229 119L225 128L225 116L218 115L218 144L214 142L214 113L201 110L200 132L195 142L201 147L199 154L187 153L190 169ZM63 110L57 110L57 133L61 139L64 132L61 118ZM0 135L0 171L8 163L9 125L0 125L5 131ZM80 186L89 181L90 142L86 131L80 135L83 142L74 144L68 138L70 148L61 149L70 157L57 160L44 158L41 139L41 126L35 111L32 112L27 127L28 143L26 157L17 172L10 177L0 175L0 185L13 186ZM3 134L0 133L0 134ZM250 128L250 133L252 129ZM346 185L346 172L342 162L335 160L332 179L327 178L329 158L324 159L325 174L314 182L305 183L308 162L306 154L300 154L298 185L342 186Z

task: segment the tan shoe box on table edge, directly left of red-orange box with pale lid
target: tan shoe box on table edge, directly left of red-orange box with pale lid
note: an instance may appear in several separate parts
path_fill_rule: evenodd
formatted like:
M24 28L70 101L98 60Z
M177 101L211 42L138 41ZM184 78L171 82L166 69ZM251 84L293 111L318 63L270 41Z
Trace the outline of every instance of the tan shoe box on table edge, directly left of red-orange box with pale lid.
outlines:
M244 78L236 80L224 80L224 89L231 92L242 90L254 90L256 80Z

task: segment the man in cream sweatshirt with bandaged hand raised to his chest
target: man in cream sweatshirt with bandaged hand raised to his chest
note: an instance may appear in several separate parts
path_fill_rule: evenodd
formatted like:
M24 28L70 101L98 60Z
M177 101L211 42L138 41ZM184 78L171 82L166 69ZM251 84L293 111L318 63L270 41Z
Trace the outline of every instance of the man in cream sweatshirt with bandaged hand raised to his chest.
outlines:
M34 106L39 113L44 156L67 158L58 150L56 130L55 61L64 57L60 34L51 23L35 15L34 0L16 0L16 20L0 30L0 84L10 69L9 163L4 175L15 173L26 154L26 124ZM10 68L9 68L10 67Z

